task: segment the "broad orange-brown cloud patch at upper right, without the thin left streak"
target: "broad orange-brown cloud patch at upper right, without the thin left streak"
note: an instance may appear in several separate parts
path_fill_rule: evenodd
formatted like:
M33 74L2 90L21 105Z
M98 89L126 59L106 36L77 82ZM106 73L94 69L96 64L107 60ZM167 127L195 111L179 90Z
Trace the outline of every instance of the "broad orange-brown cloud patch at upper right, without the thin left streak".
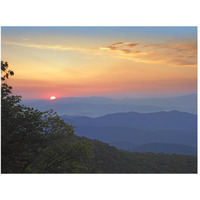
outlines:
M118 42L102 50L109 50L120 55L120 58L145 63L161 63L179 67L196 67L197 41L165 41L163 43ZM123 57L124 56L124 57Z

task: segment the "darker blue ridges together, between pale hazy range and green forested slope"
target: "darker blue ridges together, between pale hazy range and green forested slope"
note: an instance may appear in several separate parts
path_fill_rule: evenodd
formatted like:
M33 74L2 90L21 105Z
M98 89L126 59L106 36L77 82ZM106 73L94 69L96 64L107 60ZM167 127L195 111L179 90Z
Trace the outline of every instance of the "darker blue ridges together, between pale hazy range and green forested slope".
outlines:
M137 152L197 153L197 116L185 112L116 113L101 117L61 116L76 134Z

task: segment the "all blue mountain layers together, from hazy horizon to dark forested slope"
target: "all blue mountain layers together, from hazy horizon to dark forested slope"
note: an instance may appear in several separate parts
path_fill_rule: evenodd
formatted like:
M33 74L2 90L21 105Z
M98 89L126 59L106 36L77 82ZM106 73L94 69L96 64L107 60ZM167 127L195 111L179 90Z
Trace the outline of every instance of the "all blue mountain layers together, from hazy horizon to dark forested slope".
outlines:
M23 100L41 111L53 109L76 134L128 151L196 155L197 94L170 98L69 97Z

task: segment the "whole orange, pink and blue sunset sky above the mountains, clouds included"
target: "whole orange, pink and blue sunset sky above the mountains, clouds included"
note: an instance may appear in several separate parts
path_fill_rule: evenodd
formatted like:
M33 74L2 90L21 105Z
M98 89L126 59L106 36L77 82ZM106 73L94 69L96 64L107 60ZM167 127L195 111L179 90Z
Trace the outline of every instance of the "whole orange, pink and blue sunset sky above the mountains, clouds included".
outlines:
M197 92L197 27L1 27L23 99Z

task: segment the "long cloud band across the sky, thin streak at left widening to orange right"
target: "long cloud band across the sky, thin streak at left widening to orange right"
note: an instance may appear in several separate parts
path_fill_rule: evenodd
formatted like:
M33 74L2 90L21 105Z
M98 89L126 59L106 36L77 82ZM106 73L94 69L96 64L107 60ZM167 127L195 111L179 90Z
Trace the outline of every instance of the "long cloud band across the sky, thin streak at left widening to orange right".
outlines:
M38 49L79 51L96 55L106 54L136 62L160 63L178 67L196 67L197 65L197 41L192 39L181 41L171 40L163 43L116 42L96 49L26 42L7 41L2 43Z

